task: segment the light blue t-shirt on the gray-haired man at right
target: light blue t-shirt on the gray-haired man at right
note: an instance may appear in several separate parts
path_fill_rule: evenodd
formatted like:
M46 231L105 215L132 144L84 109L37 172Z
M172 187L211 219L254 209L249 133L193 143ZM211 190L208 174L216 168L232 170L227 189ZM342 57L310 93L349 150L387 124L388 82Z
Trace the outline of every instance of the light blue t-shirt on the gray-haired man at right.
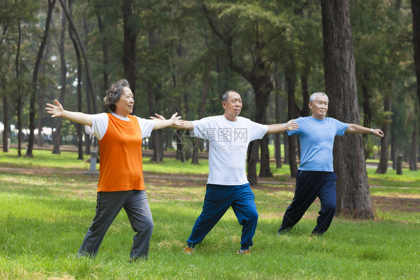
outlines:
M343 136L349 124L334 118L319 120L312 116L295 120L299 129L287 131L300 140L299 170L333 172L333 146L336 135Z

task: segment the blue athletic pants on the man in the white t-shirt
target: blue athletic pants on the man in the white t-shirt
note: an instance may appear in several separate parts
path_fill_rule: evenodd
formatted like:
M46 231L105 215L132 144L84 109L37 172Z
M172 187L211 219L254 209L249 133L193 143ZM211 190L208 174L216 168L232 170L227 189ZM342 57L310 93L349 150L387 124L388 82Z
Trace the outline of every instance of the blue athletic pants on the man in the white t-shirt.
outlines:
M203 211L198 216L187 242L190 247L203 241L220 218L232 207L242 226L241 249L252 246L257 227L258 213L250 184L224 186L207 184Z

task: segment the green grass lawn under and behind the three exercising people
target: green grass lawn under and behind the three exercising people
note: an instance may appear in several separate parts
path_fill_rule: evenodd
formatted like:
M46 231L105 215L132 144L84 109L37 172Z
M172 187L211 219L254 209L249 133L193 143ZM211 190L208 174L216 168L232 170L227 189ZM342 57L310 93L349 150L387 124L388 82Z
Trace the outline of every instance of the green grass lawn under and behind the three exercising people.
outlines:
M205 181L166 176L205 176L207 161L155 164L145 158L154 230L148 260L128 263L134 232L124 211L96 258L76 258L96 205L98 177L83 174L88 163L70 152L14 154L0 152L0 167L23 169L0 174L0 279L420 279L420 214L413 209L420 172L368 170L372 200L379 201L375 220L336 217L324 237L311 237L315 201L288 235L277 237L294 187L278 183L290 180L288 166L272 166L275 182L253 190L259 220L252 255L235 254L241 227L229 210L188 256L182 248L201 212Z

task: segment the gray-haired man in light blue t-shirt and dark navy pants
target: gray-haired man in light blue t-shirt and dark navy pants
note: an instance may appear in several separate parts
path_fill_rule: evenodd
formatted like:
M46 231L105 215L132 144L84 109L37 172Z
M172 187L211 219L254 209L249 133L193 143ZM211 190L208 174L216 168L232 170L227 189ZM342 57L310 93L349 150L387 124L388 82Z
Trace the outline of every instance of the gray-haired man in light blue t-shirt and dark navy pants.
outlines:
M318 197L321 210L312 232L324 234L336 214L336 179L333 170L333 146L336 135L346 133L373 134L383 137L380 129L369 129L356 124L345 124L327 118L328 96L323 92L311 95L309 108L312 116L295 120L299 129L287 131L300 140L300 164L296 174L296 187L292 203L283 216L278 235L287 233L302 218L309 206Z

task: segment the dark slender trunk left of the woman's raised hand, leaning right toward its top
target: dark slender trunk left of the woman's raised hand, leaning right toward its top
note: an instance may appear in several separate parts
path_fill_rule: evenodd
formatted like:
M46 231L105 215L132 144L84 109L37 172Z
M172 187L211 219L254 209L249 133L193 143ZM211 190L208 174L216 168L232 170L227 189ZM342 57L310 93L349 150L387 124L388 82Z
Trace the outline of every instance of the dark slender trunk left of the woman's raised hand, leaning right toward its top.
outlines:
M40 69L42 53L47 42L48 31L51 23L52 10L55 5L56 0L48 0L48 11L47 18L45 21L44 34L40 43L40 48L38 50L37 59L35 61L34 72L32 76L32 91L30 97L29 105L29 140L28 140L28 149L26 150L26 156L32 157L33 147L34 147L34 129L35 129L35 101L37 98L37 87L38 87L38 71Z

